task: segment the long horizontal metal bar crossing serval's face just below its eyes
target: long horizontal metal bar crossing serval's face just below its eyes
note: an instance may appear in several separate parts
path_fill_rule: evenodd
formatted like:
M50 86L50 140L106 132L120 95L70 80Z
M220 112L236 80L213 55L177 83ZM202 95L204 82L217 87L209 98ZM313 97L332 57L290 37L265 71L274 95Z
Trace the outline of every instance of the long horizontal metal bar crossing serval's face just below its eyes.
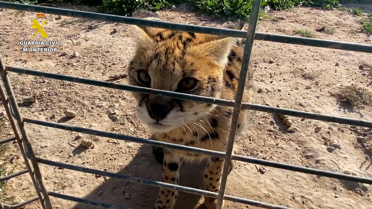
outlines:
M29 70L29 69L10 67L10 66L6 66L6 70L10 72L14 72L14 73L23 73L27 75L35 75L39 77L52 78L52 79L70 81L70 82L75 82L75 83L89 84L93 86L101 86L101 87L126 90L126 91L135 91L135 92L140 92L140 93L145 93L145 94L157 94L160 96L172 97L175 99L192 100L192 101L197 101L197 102L212 103L212 104L221 105L221 106L234 107L234 101L225 100L225 99L215 99L212 97L197 96L197 95L184 94L184 93L178 93L178 92L173 92L173 91L149 89L145 87L130 86L130 85L112 83L112 82L107 82L107 81L97 81L97 80L93 80L89 78L78 78L78 77L73 77L70 75L47 73L44 71ZM290 109L279 108L279 107L270 107L270 106L265 106L265 105L250 104L250 103L245 103L245 102L243 102L241 105L242 105L241 109L246 109L246 110L256 110L256 111L261 111L261 112L277 113L277 114L300 117L300 118L323 120L327 122L342 123L342 124L347 124L347 125L355 125L355 126L372 128L372 122L367 121L367 120L357 120L357 119L352 119L352 118L344 118L344 117L337 117L337 116L331 116L331 115L321 115L317 113L304 112L304 111L299 111L299 110L290 110Z

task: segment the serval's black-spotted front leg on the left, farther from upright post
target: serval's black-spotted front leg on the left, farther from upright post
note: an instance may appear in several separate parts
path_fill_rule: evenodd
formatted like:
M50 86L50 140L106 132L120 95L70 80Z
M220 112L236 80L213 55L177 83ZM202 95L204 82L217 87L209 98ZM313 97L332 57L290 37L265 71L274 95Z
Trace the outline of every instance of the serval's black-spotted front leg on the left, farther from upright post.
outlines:
M180 165L181 163L179 157L174 156L172 150L166 149L164 151L163 173L161 174L161 181L178 185ZM177 190L160 188L154 209L173 209L174 204L176 203L177 194Z

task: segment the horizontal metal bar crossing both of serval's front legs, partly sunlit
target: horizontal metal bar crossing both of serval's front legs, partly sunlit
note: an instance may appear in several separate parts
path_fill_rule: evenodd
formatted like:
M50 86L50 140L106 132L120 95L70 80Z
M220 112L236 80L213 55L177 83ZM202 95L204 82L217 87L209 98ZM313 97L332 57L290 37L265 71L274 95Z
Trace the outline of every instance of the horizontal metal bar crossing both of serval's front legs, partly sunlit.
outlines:
M174 190L178 190L180 192L199 194L199 195L208 196L208 197L217 197L217 195L218 195L218 193L215 193L215 192L209 192L209 191L205 191L205 190L201 190L201 189L195 189L195 188L180 186L180 185L176 185L176 184L164 183L164 182L161 182L161 181L143 179L143 178L134 177L134 176L126 176L124 174L111 173L111 172L108 172L108 171L101 171L101 170L96 170L96 169L92 169L92 168L85 168L85 167L81 167L81 166L77 166L77 165L59 163L59 162L46 160L46 159L42 159L42 158L37 158L37 160L38 160L39 163L46 164L46 165L52 165L52 166L65 168L65 169L70 169L70 170L74 170L74 171L81 171L81 172L84 172L84 173L97 174L97 175L100 175L100 176L107 176L107 177L111 177L111 178L115 178L115 179L131 181L131 182L135 182L135 183L147 184L147 185L150 185L150 186L163 187L163 188L167 188L167 189L174 189ZM49 192L49 195L54 196L54 194L51 194L50 192ZM291 208L285 208L285 207L282 207L282 206L279 206L279 205L272 205L272 204L269 204L269 203L257 202L257 201L254 201L254 200L248 200L248 199L244 199L244 198L240 198L240 197L234 197L234 196L230 196L230 195L225 196L225 199L230 200L230 201L245 203L245 204L248 204L248 205L259 206L259 207L262 207L262 208L291 209Z

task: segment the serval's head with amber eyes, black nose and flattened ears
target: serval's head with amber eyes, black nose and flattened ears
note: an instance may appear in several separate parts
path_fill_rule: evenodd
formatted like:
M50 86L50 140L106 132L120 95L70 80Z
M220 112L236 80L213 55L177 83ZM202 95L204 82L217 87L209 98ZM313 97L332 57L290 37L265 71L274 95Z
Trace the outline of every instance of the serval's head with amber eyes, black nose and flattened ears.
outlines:
M134 17L160 20L139 10ZM243 24L230 26L241 29ZM218 98L235 38L134 26L137 50L128 67L129 84ZM168 132L208 114L212 104L132 93L138 117L155 132Z

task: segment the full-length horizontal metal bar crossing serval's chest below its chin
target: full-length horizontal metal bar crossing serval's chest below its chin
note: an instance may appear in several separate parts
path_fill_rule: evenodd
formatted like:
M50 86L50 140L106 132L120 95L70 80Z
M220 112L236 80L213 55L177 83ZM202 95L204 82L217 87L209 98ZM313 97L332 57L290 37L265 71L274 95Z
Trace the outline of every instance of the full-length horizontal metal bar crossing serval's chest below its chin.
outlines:
M31 119L31 118L23 117L23 121L27 122L27 123L33 123L33 124L36 124L36 125L42 125L42 126L47 126L47 127L52 127L52 128L64 129L64 130L68 130L68 131L80 132L80 133L83 133L83 134L92 134L92 135L96 135L96 136L120 139L120 140L131 141L131 142L137 142L137 143L148 144L148 145L152 145L152 146L159 146L159 147L166 147L166 148L171 148L171 149L179 149L179 150L184 150L184 151L197 152L197 153L210 155L210 156L215 156L215 157L222 157L222 156L225 155L224 152L211 151L211 150L208 150L208 149L200 149L200 148L196 148L196 147L187 147L187 146L183 146L183 145L171 144L171 143L161 142L161 141L154 141L154 140L150 140L150 139L142 139L142 138L126 136L126 135L121 135L121 134L113 134L113 133L110 133L110 132L97 131L97 130L94 130L94 129L81 128L81 127L78 127L78 126L63 125L63 124L60 124L60 123L47 122L47 121L44 121L44 120L37 120L37 119ZM185 148L187 148L187 149L185 149ZM251 158L251 157L246 157L246 156L241 156L241 155L232 155L231 159L242 161L242 162L247 162L247 163L265 165L265 166L269 166L269 167L282 168L282 169L285 169L285 170L291 170L291 171L298 171L298 172L303 172L303 173L308 173L308 174L314 174L314 175L318 175L318 176L325 176L325 177L331 177L331 178L336 178L336 179L344 179L344 180L349 180L349 181L355 181L355 182L359 182L359 183L372 184L372 179L368 179L368 178L351 176L351 175L346 175L346 174L339 174L339 173L334 173L334 172L330 172L330 171L318 170L318 169L314 169L314 168L306 168L306 167L301 167L301 166L297 166L297 165L278 163L278 162L269 161L269 160L261 160L261 159Z

